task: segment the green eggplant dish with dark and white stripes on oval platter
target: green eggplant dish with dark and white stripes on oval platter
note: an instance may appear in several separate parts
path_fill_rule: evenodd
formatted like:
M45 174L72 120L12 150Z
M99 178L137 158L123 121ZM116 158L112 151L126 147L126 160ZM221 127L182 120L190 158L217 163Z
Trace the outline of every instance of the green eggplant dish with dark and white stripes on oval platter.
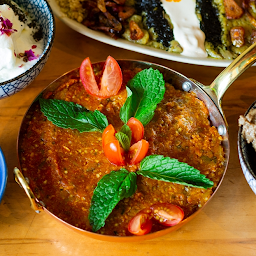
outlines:
M256 41L255 0L56 1L90 29L184 56L235 59Z

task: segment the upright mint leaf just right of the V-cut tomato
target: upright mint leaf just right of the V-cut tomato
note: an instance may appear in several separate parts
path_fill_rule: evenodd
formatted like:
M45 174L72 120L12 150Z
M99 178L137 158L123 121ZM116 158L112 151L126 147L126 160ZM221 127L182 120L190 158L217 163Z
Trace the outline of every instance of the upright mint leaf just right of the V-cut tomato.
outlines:
M163 99L165 82L159 70L144 69L127 84L127 100L121 108L124 123L133 116L145 126L154 116L157 104Z

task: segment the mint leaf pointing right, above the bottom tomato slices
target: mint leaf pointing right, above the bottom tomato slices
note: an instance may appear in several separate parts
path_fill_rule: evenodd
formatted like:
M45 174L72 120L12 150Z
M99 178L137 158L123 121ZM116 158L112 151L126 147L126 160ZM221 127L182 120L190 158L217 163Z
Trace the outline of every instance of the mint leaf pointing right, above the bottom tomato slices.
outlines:
M214 184L194 167L162 155L145 157L140 163L140 170L137 174L155 180L199 188L210 188Z

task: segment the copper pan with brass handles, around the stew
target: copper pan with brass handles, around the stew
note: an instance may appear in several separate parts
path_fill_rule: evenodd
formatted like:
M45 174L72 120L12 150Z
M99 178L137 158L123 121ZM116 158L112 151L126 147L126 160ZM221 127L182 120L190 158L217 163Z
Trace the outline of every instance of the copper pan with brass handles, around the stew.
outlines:
M229 145L229 138L228 138L228 125L224 116L224 113L221 108L221 99L226 92L226 90L229 88L229 86L236 80L247 68L249 68L254 62L256 61L256 44L252 45L250 48L248 48L243 54L241 54L234 62L232 62L213 82L210 86L204 86L200 84L197 81L194 81L193 79L188 79L187 77L183 76L182 74L179 74L176 71L173 71L167 67L160 66L158 64L153 64L149 62L144 61L137 61L137 60L118 60L119 65L121 68L126 69L133 69L135 67L139 67L142 69L152 67L154 69L158 69L164 76L164 79L166 82L169 82L172 84L176 89L185 90L185 91L193 91L196 93L197 97L202 100L205 105L207 106L209 113L210 113L210 121L212 125L214 125L218 131L219 134L223 137L223 148L225 153L225 171L224 174L213 192L211 198L214 196L216 191L218 190L223 177L226 173L228 161L229 161L229 154L230 154L230 145ZM95 63L93 65L100 65L100 63ZM46 89L43 90L42 93L53 91L55 88L57 88L60 84L63 82L69 80L70 77L74 75L78 75L79 69L72 70L54 82L52 82ZM37 101L37 98L35 99L34 103ZM33 103L33 104L34 104ZM30 106L30 108L33 106L33 104ZM25 115L26 117L26 115ZM25 119L24 117L24 119ZM24 123L21 124L21 127ZM18 137L18 143L17 143L17 150L19 155L19 138ZM53 215L51 212L49 212L45 207L43 202L40 202L35 196L33 191L30 189L27 179L23 177L22 172L18 169L14 169L15 174L15 180L18 184L20 184L23 189L25 190L26 194L28 195L31 207L36 211L40 212L42 210L48 212L50 215L67 225L68 227L84 234L87 236L90 236L95 239L105 240L105 241L116 241L116 242L129 242L129 241L141 241L145 239L152 239L155 237L162 236L164 234L167 234L171 231L174 231L178 228L180 228L182 225L189 222L192 218L194 218L204 207L202 207L200 210L192 214L190 217L182 221L180 224L167 228L165 230L161 230L155 233L147 234L144 236L130 236L130 237L114 237L114 236L106 236L106 235L100 235L92 232L88 232L82 229L79 229L77 227L74 227L67 222L64 222L63 220L59 219L57 216ZM211 199L210 198L210 199ZM208 200L209 202L209 200Z

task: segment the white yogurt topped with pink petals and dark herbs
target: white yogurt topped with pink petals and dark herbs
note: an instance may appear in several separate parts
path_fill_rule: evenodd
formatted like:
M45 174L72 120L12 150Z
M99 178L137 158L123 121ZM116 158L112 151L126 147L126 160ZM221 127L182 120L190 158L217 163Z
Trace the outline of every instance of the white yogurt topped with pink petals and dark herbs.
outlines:
M42 36L35 36L38 35L35 22L11 3L15 8L8 4L0 5L0 83L31 68L44 48ZM22 12L21 17L19 13Z

